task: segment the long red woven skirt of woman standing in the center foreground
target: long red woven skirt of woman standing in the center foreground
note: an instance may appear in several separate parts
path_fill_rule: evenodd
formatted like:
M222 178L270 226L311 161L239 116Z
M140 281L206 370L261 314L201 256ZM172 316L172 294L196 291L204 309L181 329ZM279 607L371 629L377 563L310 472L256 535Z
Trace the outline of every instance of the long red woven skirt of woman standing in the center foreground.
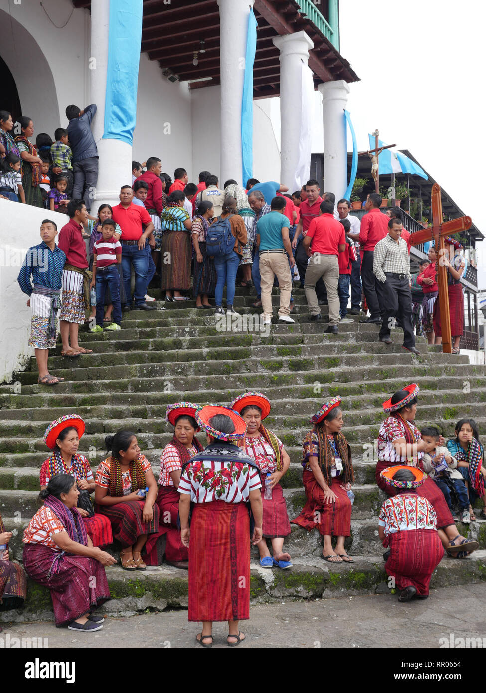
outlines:
M189 538L189 621L250 618L246 503L195 503Z

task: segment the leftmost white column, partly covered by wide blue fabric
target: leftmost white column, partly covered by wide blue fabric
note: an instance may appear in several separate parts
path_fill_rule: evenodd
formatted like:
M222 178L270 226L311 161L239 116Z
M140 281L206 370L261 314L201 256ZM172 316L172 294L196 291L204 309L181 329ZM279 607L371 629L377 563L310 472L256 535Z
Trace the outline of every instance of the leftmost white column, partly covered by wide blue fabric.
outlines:
M100 204L119 204L122 185L132 184L132 147L118 139L103 139L105 128L105 94L110 33L110 0L96 0L91 8L91 98L97 111L92 132L98 147L98 184L94 191L92 216Z

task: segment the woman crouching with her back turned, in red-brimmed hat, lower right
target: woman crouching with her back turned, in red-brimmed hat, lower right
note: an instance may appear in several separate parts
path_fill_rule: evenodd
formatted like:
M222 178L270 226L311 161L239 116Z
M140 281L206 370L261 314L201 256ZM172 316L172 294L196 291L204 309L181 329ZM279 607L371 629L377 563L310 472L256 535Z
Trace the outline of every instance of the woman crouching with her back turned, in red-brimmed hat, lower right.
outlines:
M390 547L385 571L400 590L399 602L427 599L431 575L444 556L435 510L416 490L426 478L421 469L402 465L381 472L388 489L397 494L381 506L378 534L383 547Z

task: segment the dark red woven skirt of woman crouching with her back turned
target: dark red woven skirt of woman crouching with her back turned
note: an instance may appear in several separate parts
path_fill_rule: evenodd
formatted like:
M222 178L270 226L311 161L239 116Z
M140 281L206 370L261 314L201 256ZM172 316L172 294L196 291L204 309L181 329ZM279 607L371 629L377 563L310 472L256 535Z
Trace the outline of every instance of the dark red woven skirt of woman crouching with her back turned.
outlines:
M385 571L394 577L397 589L404 590L411 585L419 595L428 595L431 575L444 556L435 529L410 529L390 534L389 548Z

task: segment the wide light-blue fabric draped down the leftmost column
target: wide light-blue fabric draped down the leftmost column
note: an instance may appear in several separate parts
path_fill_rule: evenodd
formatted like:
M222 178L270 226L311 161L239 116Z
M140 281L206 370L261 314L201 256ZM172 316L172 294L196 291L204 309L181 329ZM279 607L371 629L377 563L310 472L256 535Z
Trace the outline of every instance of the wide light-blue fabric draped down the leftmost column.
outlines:
M142 0L110 1L103 139L132 144L137 114Z

